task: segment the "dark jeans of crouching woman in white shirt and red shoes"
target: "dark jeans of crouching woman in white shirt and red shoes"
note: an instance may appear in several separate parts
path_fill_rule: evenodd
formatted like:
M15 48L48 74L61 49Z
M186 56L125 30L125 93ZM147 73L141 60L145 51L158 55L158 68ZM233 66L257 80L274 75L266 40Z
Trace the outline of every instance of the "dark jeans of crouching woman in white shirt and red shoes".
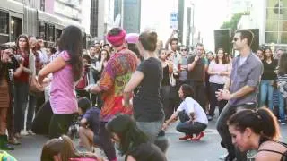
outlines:
M187 123L189 120L188 115L185 111L181 111L178 113L178 117L180 120L180 123L177 125L177 131L184 132L186 135L198 135L200 132L204 131L207 127L207 124L204 123Z

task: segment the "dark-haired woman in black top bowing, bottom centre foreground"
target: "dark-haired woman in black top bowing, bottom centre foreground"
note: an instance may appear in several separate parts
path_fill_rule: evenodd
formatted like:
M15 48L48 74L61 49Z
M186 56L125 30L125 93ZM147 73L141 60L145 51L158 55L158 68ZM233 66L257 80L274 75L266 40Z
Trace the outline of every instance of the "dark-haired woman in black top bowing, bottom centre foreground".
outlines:
M116 143L126 161L165 161L161 149L150 142L137 128L135 120L126 114L118 114L106 126L112 140Z

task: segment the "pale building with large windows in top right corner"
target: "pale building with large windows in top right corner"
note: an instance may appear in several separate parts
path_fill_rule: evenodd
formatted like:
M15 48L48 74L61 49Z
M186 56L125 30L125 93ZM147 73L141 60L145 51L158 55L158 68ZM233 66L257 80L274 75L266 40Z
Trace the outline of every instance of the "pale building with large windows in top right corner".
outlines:
M244 20L243 20L244 19ZM259 29L259 44L287 48L287 1L254 0L239 29Z

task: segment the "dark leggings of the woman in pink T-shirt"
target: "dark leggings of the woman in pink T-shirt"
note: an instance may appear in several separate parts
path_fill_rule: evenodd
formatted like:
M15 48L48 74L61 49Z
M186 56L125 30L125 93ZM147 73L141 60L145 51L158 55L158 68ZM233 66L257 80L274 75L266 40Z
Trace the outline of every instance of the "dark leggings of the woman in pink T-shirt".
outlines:
M58 138L66 134L73 119L74 114L53 114L48 127L49 138Z

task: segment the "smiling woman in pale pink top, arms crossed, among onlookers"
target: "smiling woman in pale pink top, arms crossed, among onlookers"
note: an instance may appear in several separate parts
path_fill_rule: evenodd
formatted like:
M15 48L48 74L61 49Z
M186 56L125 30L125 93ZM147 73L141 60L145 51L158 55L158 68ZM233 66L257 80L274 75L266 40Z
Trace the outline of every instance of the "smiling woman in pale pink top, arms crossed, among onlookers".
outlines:
M219 114L221 114L223 107L227 103L227 101L225 100L218 101L217 97L215 96L215 91L217 91L218 89L223 89L225 81L227 77L230 75L230 68L231 68L230 64L228 63L226 55L224 55L223 49L219 48L215 59L209 64L208 67L208 74L210 75L209 77L210 109L208 115L209 120L213 119L215 106L219 107L218 108Z

